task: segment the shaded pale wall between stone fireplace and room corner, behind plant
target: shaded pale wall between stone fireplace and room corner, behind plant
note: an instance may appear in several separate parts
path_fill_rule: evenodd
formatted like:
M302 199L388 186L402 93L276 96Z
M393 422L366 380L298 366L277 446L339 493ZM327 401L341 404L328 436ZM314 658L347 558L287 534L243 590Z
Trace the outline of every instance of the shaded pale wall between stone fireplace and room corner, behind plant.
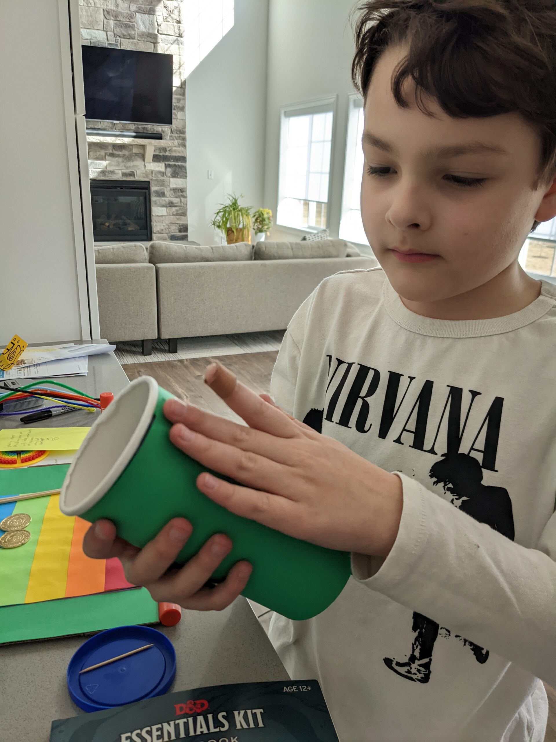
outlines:
M264 206L267 30L268 0L235 0L234 27L187 78L188 234L202 245L223 239L209 225L228 193Z

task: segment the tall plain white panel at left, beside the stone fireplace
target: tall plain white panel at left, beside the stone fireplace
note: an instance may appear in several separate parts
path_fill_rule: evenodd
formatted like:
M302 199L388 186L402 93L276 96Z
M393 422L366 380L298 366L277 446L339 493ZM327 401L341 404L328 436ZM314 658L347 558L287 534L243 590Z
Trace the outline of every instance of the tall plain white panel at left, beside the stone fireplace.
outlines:
M14 333L28 343L90 336L71 191L79 201L67 5L28 0L24 44L21 13L20 3L0 2L2 348ZM81 218L79 203L82 231Z

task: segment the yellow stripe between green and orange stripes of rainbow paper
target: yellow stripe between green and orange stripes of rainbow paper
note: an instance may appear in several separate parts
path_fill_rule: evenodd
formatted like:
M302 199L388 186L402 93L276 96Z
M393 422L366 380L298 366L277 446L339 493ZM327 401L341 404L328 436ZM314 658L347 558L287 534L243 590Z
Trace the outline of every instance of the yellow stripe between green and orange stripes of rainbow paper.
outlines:
M56 600L63 598L66 593L67 565L76 519L61 512L59 499L59 495L52 495L44 513L25 603ZM29 527L33 528L33 522Z

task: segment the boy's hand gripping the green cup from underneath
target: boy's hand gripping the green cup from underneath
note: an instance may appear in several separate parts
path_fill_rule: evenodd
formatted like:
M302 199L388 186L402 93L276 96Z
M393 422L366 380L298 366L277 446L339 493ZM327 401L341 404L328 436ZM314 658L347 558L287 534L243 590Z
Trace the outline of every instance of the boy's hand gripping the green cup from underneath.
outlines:
M159 603L178 603L195 611L221 611L245 588L251 565L238 562L224 582L206 588L205 583L232 548L228 536L219 534L212 536L184 567L167 572L192 531L187 520L174 518L145 548L138 549L118 538L109 520L99 520L85 534L83 551L92 559L118 557L128 582L148 588Z

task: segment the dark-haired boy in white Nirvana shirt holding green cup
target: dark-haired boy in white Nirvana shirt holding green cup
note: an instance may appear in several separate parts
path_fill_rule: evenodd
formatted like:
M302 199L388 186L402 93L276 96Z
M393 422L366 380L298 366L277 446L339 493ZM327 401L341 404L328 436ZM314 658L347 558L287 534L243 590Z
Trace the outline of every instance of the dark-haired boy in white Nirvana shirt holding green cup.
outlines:
M538 678L556 684L556 286L517 258L556 216L556 5L361 10L361 211L381 267L302 304L276 406L211 367L249 427L169 402L171 439L245 485L200 475L216 502L351 551L330 608L270 626L291 677L320 680L342 742L541 742ZM214 536L165 574L190 533L175 519L138 552L99 522L85 548L121 557L156 600L224 608L250 567L203 587L231 548Z

